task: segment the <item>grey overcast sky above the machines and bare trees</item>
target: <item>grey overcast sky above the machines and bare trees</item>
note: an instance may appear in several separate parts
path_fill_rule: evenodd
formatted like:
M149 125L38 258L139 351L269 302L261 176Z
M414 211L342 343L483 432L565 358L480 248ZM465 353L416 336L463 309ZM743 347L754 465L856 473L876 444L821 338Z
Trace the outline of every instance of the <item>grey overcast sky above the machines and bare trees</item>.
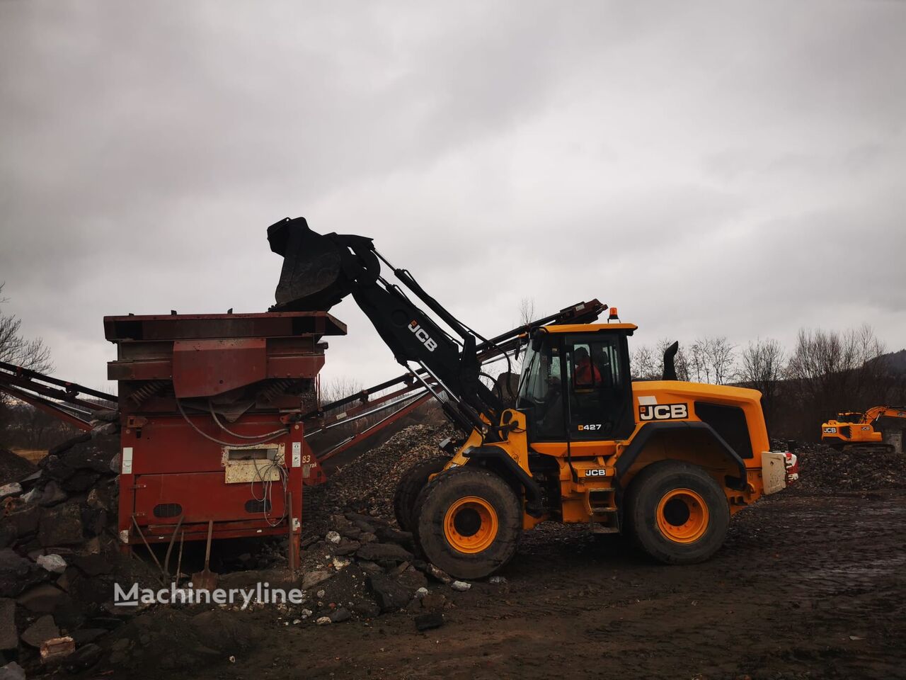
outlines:
M5 313L266 311L266 227L358 233L483 334L906 345L906 3L0 0ZM325 374L400 373L352 298Z

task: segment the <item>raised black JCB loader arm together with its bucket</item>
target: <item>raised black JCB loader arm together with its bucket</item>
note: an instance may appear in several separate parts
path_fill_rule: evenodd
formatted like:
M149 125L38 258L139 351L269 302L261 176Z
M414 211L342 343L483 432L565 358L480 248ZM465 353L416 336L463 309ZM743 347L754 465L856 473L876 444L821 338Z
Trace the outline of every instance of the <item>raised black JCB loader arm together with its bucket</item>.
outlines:
M352 295L396 360L438 397L448 417L464 432L487 431L503 403L479 379L477 336L429 296L405 269L397 278L446 323L461 340L443 330L402 289L381 277L381 257L371 238L321 235L304 218L284 219L267 229L271 249L284 257L272 311L327 310ZM482 419L484 416L486 420Z

